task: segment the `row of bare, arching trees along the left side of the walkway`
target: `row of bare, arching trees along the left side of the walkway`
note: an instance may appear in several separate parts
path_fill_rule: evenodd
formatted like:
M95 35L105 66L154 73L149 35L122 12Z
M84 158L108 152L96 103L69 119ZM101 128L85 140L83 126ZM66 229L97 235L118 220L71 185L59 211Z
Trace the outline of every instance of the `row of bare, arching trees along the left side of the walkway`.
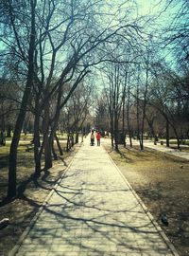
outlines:
M131 2L129 6L123 2L116 7L99 0L1 1L1 84L7 82L13 98L9 102L15 103L9 150L9 198L16 195L17 148L26 117L31 115L33 119L38 176L42 154L44 169L52 167L53 143L59 126L72 133L81 129L91 104L90 77L94 66L105 62L103 49L107 42L116 37L138 37L137 18L130 18ZM121 7L125 14L120 17ZM2 98L7 100L8 93L6 97L2 93ZM7 119L6 113L2 113Z

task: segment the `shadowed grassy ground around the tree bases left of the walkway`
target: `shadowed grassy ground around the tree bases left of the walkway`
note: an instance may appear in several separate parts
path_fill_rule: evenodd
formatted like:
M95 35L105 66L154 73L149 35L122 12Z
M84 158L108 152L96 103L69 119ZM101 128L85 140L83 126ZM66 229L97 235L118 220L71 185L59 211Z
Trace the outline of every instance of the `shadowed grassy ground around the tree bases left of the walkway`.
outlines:
M27 151L26 144L20 143L18 148L17 180L20 195L8 204L3 203L3 198L8 188L9 143L5 147L0 147L0 220L9 218L9 226L0 229L1 256L7 256L9 250L14 247L79 146L75 146L69 153L63 152L63 156L58 161L54 161L54 168L50 172L42 172L41 177L36 180L32 175L34 172L33 150ZM65 147L65 142L61 143L61 146ZM59 164L62 165L62 170L57 172L56 165Z

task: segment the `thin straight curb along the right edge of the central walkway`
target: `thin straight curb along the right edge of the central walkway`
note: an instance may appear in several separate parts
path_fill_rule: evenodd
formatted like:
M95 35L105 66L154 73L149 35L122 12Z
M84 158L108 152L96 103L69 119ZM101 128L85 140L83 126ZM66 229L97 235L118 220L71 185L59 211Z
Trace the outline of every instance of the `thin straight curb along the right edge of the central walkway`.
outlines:
M106 151L105 147L103 146L103 149ZM106 151L106 153L108 154L108 152ZM109 155L109 154L108 154ZM157 223L157 221L154 219L153 215L149 212L149 210L147 210L146 205L144 204L144 202L142 201L142 199L139 197L139 195L134 191L134 189L132 188L132 186L129 184L128 179L126 178L126 176L124 174L122 174L122 172L120 171L119 167L115 164L115 162L112 160L111 155L109 155L109 158L112 161L112 164L115 166L117 172L122 176L122 178L124 179L124 181L127 183L127 185L129 186L130 191L133 193L133 195L136 197L136 199L138 200L138 202L140 203L140 205L142 206L142 208L145 210L149 220L151 221L151 223L154 225L154 227L158 230L158 232L160 233L161 237L163 238L163 241L165 242L166 246L171 250L171 252L173 253L174 256L180 256L180 254L178 253L176 247L174 247L174 245L171 243L171 241L169 240L169 238L166 236L166 234L164 233L163 229L160 227L160 225Z

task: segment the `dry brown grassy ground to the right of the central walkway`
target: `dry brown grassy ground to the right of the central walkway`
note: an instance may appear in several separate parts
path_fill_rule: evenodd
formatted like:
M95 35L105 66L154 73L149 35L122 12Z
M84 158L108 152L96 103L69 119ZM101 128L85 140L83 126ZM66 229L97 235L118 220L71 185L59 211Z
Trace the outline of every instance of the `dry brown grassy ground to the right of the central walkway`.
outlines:
M106 149L180 256L189 255L189 161L137 147L118 153ZM161 221L163 213L168 226Z

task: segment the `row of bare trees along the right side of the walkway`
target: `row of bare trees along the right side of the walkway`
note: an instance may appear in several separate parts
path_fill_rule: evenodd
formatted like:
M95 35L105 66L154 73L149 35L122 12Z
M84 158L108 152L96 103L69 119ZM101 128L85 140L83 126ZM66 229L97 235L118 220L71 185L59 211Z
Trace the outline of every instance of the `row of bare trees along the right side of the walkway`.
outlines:
M166 11L172 4L178 3L168 1ZM124 144L129 135L130 146L136 136L141 150L145 134L154 137L154 142L165 137L166 146L169 138L175 137L178 148L180 141L189 137L189 24L183 20L187 2L182 1L178 9L174 23L150 33L143 41L109 44L107 55L112 62L102 67L104 91L96 101L96 125L111 130L116 150L120 133ZM162 51L167 54L167 48L171 54L164 58Z

